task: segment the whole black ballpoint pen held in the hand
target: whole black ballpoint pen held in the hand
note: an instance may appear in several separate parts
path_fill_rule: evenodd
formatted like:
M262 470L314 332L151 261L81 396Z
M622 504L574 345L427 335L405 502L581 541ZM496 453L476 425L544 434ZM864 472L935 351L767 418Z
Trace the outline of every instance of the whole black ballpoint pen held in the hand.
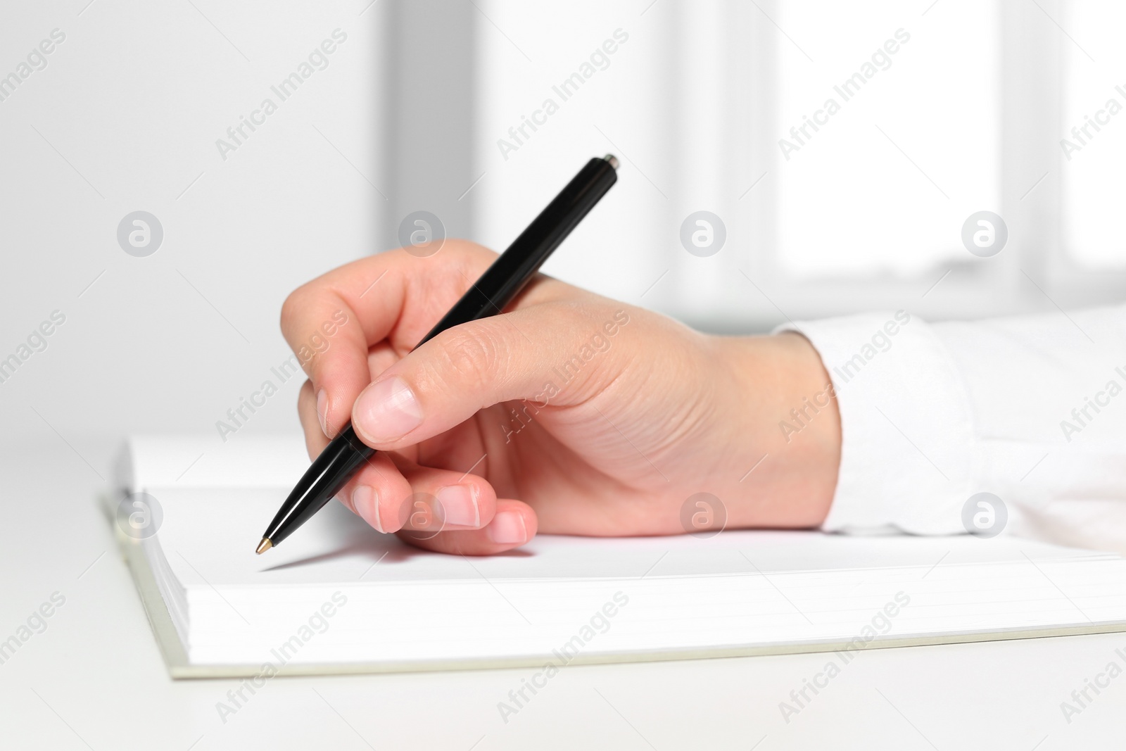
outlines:
M587 162L415 348L446 329L500 313L617 181L617 167L618 160L610 154ZM346 426L313 459L266 528L256 552L260 555L277 546L309 521L374 454L351 424Z

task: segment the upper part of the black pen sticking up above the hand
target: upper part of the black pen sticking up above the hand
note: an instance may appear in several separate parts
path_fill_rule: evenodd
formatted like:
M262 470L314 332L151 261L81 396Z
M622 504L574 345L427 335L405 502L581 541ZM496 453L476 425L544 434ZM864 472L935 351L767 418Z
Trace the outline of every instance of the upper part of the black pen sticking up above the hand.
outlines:
M617 179L606 159L587 162L415 347L446 329L503 311Z

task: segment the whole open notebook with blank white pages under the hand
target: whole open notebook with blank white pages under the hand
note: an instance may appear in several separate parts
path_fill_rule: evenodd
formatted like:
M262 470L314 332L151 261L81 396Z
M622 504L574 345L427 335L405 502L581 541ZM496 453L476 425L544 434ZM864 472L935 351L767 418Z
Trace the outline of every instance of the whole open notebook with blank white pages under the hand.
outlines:
M1126 631L1126 561L1007 537L545 535L519 552L466 558L403 545L333 502L254 555L306 466L300 439L288 437L127 445L110 504L128 492L155 499L144 513L157 533L118 536L173 677L852 652Z

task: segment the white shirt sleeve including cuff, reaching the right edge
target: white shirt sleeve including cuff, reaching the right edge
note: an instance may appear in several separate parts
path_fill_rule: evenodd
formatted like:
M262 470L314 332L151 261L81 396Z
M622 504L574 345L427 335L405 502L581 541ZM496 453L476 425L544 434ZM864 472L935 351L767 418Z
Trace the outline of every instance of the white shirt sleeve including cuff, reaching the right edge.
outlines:
M965 533L963 507L989 492L1007 531L1126 551L1126 306L783 329L817 349L840 408L824 529Z

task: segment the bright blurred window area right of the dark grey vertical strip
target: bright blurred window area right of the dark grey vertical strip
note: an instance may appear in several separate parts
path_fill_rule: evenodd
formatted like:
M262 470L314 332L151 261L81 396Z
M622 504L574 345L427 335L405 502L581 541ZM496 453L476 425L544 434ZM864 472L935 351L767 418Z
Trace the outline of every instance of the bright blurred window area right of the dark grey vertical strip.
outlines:
M482 0L477 234L504 247L583 159L614 151L619 184L546 270L706 329L1121 301L1126 126L1098 136L1101 158L1067 161L1060 146L1064 122L1114 93L1114 5ZM615 29L628 42L563 101L552 86ZM834 86L887 41L890 64L846 101ZM548 98L558 111L502 154L508 128ZM784 154L780 140L829 98L840 113ZM679 239L698 209L726 226L709 258ZM1008 224L993 258L962 242L980 211Z

